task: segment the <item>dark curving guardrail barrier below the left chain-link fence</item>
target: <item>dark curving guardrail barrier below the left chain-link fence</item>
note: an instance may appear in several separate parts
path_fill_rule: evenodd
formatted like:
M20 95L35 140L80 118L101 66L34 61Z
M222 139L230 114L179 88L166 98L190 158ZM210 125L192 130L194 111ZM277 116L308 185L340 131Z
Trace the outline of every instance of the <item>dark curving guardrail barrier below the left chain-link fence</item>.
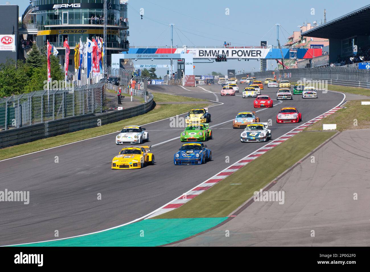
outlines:
M29 125L27 127L14 128L0 132L0 148L10 147L25 142L53 137L64 133L84 130L85 128L97 127L98 124L106 125L130 117L141 115L150 111L153 106L153 95L149 93L147 103L124 110L104 114L84 114L74 117L67 117L59 120Z

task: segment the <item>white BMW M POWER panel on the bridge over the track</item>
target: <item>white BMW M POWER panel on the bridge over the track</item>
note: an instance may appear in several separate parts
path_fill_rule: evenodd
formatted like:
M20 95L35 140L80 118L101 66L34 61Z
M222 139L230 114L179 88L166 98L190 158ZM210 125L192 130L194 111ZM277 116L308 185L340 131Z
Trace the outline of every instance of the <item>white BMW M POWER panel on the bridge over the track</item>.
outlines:
M269 48L196 48L189 49L193 58L216 58L219 54L225 54L227 58L265 58Z

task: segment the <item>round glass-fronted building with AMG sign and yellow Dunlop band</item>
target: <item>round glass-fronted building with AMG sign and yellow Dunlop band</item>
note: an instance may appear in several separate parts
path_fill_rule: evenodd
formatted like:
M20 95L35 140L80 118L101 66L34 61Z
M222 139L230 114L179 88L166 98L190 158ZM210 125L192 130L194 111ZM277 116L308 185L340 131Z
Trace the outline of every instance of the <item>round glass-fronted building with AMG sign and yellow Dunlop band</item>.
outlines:
M72 49L80 39L103 37L103 0L36 0L32 5L36 13L37 46L45 47L49 41L58 48L61 59L66 38ZM111 53L127 51L129 47L127 4L107 0L107 15L105 45L110 59Z

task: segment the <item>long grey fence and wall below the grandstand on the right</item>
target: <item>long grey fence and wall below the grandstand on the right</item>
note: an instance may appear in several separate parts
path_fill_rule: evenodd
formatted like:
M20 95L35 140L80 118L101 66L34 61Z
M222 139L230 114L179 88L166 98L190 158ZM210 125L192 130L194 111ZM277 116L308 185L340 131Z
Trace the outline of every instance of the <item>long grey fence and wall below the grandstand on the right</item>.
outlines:
M275 74L274 74L275 73ZM236 78L242 77L256 78L286 78L287 80L323 80L327 84L370 88L370 73L367 70L360 70L356 67L317 67L317 68L297 68L265 72L255 72L239 74Z

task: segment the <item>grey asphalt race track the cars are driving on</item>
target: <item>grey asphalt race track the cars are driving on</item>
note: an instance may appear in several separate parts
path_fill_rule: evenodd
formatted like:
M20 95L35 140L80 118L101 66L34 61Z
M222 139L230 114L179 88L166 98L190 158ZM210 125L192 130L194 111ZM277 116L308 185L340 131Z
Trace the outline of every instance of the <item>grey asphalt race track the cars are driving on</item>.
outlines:
M240 91L245 84L238 84ZM169 119L145 125L150 135L149 145L155 155L155 165L143 169L112 170L112 158L122 146L109 134L23 157L0 162L1 190L30 191L30 204L3 202L1 205L0 245L20 244L65 238L111 228L140 218L195 187L212 175L245 157L265 143L242 143L242 130L232 129L232 119L238 111L253 108L254 98L221 97L221 85L199 87L150 86L153 91L205 98L219 102L209 108L213 140L206 142L213 161L205 165L175 166L173 156L181 146L183 128L171 128ZM261 94L276 98L277 88L267 88ZM216 95L214 94L216 93ZM319 92L318 99L283 101L260 110L261 122L272 119L272 138L292 130L299 124L276 124L276 114L282 106L294 106L302 113L302 122L338 105L343 94ZM185 115L182 115L184 117ZM136 125L136 124L134 124ZM171 141L168 141L171 140ZM166 142L167 141L167 142ZM164 142L164 143L162 143ZM161 143L161 144L160 144ZM146 145L146 143L144 144ZM55 156L59 162L55 163ZM230 162L225 162L225 157ZM268 167L268 165L266 165ZM101 200L97 194L101 193ZM58 230L59 237L54 237Z

